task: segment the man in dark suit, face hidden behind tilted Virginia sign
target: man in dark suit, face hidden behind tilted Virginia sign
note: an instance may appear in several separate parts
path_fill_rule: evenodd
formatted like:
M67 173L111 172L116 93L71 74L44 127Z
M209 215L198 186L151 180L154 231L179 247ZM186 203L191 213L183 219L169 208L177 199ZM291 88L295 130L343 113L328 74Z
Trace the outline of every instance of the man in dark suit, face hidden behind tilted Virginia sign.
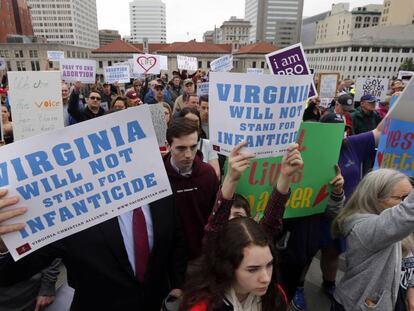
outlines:
M2 222L25 212L21 208L2 212L2 207L17 203L4 199L6 193L0 190L0 237L21 229L22 225ZM150 250L141 279L136 260L142 254L134 254L131 228L140 209ZM30 277L56 257L62 258L68 283L75 289L71 310L159 311L168 293L180 295L186 269L185 242L172 196L49 244L17 262L0 238L0 286Z

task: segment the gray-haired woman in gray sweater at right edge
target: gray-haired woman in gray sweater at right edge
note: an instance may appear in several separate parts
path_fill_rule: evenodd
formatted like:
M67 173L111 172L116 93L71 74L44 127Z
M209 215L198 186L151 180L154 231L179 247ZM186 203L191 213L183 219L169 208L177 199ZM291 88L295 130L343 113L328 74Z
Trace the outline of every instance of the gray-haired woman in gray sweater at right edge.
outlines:
M402 265L414 253L412 190L404 174L379 169L364 177L339 212L333 231L345 236L348 248L331 310L392 311L401 304L414 310L413 269Z

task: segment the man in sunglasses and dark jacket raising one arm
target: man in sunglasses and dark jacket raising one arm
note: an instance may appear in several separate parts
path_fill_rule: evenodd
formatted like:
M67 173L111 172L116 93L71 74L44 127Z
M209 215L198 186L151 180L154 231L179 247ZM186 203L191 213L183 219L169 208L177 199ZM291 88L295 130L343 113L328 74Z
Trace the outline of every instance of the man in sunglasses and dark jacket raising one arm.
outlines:
M101 107L101 95L98 92L90 92L86 99L86 106L79 107L79 94L82 83L75 83L72 94L69 98L68 112L76 122L90 120L103 116L105 110Z

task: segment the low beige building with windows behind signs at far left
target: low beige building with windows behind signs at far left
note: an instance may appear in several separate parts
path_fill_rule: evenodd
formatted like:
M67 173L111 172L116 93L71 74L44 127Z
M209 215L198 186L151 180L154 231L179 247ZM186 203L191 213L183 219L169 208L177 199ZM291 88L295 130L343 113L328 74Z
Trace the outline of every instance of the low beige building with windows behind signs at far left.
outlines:
M47 59L47 51L64 51L65 58L90 57L90 49L60 43L1 43L0 57L4 57L8 71L39 71L59 69L59 62Z

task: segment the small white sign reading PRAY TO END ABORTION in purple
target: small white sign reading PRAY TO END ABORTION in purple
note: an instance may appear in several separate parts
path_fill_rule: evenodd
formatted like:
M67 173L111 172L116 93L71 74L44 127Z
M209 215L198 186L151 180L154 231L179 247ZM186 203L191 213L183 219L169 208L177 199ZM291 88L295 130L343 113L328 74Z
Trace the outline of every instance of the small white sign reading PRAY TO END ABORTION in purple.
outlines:
M61 59L60 76L65 82L95 83L96 61L88 59Z

